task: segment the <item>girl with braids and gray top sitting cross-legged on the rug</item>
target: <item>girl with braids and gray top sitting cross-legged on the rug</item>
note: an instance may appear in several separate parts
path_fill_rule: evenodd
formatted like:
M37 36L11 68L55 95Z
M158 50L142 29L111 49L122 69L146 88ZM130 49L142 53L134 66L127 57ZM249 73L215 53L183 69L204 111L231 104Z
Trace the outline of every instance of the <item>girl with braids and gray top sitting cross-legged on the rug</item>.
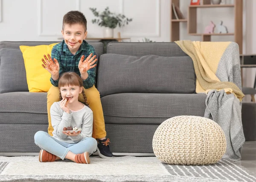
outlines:
M87 107L83 80L75 72L64 73L58 82L60 100L51 106L53 136L38 131L35 144L41 148L40 162L70 159L77 163L90 164L89 156L96 151L97 141L92 138L93 111ZM85 105L78 101L82 94ZM64 132L68 126L82 128L77 133Z

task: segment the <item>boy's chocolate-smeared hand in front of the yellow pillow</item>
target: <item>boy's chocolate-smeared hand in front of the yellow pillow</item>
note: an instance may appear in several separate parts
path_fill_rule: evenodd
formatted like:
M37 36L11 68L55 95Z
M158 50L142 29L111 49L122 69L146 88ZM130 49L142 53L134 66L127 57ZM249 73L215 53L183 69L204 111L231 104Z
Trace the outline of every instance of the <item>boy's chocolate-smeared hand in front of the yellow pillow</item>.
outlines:
M48 58L46 57L46 55L44 55L44 59L42 59L42 62L44 64L42 64L42 66L49 71L50 74L52 74L53 76L57 75L59 73L60 70L60 65L58 63L58 60L56 60L55 58L53 59L54 62L52 61L52 58L50 57L49 54L47 54Z

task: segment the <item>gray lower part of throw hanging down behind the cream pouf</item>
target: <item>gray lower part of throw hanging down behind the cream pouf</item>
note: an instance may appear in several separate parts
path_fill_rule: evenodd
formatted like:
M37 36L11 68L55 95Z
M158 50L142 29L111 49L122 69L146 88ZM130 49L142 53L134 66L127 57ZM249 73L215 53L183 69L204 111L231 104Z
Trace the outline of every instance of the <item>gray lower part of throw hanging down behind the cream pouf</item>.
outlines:
M239 99L233 94L226 94L224 90L212 90L208 92L205 104L204 117L217 122L226 136L227 150L222 159L240 160L245 138Z

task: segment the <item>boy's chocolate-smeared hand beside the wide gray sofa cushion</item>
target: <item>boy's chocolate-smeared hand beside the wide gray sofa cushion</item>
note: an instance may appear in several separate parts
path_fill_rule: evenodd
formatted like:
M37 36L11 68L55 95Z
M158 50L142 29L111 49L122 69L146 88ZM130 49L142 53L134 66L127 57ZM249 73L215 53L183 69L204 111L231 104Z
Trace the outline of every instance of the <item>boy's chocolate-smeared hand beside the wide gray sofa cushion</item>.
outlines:
M84 60L84 55L82 55L80 61L79 61L79 64L78 64L78 68L79 68L79 71L81 74L84 74L84 73L87 73L87 71L91 68L94 68L96 66L93 65L97 59L96 58L96 55L94 55L92 57L93 53L91 53L87 58L86 60ZM92 58L91 58L92 57Z

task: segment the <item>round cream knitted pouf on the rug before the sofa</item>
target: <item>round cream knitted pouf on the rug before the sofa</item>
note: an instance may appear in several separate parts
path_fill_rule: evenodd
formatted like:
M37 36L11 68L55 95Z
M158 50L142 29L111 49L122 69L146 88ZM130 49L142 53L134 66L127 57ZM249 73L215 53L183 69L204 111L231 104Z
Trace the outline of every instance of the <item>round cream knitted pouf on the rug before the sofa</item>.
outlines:
M218 162L226 152L221 127L211 119L177 116L164 121L153 137L154 154L172 165L207 165Z

